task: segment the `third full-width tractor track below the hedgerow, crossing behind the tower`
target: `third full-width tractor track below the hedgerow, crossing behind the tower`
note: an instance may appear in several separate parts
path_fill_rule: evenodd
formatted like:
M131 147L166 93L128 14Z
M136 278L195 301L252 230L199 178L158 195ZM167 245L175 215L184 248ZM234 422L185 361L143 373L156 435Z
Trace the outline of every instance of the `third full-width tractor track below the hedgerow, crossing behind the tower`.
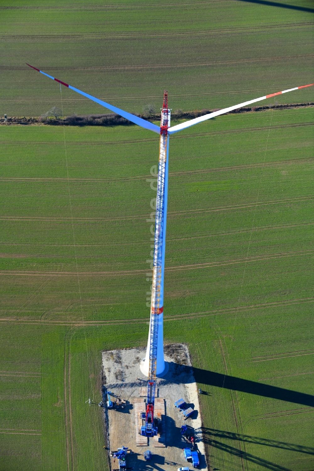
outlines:
M169 211L167 213L167 217L172 218L174 216L185 216L189 214L198 214L203 212L220 212L220 211L232 211L232 210L239 210L239 209L247 209L247 208L255 208L256 206L268 206L268 205L275 205L275 204L287 204L293 202L303 202L303 201L310 201L313 200L314 196L296 196L294 198L283 198L280 200L269 200L269 201L261 201L259 203L245 203L245 204L234 204L229 206L217 206L217 207L210 207L210 208L196 208L191 210L182 210L182 211ZM133 220L140 220L140 219L149 219L150 214L142 214L142 215L133 215L133 216L120 216L115 218L73 218L74 222L103 222L103 221L133 221ZM0 220L2 221L71 221L71 218L65 217L41 217L41 216L0 216ZM150 219L149 219L150 221Z

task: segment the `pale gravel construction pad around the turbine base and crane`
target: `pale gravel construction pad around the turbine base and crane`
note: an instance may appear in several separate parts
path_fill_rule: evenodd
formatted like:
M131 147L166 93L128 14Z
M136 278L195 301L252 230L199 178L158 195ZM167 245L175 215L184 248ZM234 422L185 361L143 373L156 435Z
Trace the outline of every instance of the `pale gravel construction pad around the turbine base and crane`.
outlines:
M128 447L132 453L127 455L127 468L138 471L163 470L174 471L180 466L193 469L183 455L182 448L191 447L182 438L181 426L185 423L194 428L196 448L199 455L199 468L207 470L204 455L204 445L201 435L201 416L198 403L197 384L193 376L189 350L183 344L165 345L165 361L169 370L163 377L157 378L156 397L165 399L165 447L154 447L154 440L149 439L147 446L136 446L138 433L135 427L134 400L139 400L140 391L146 391L147 378L140 371L140 361L145 356L146 349L122 349L104 351L102 353L103 384L107 390L126 400L124 409L104 408L107 430L108 453L119 447ZM174 402L183 398L194 412L186 420ZM143 411L145 397L142 397ZM144 460L144 451L150 450L152 458ZM117 460L110 458L111 469L118 469Z

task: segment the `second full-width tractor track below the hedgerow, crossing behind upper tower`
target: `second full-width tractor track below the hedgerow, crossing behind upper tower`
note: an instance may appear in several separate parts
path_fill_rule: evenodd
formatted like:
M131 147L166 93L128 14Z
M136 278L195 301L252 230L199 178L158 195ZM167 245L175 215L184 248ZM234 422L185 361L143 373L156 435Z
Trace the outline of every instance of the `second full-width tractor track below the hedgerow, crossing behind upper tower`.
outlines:
M290 159L284 161L277 161L277 162L266 162L264 167L277 167L281 165L292 165L292 164L302 164L302 163L309 163L313 162L313 158L305 158L305 159ZM224 172L224 171L233 171L233 170L246 170L246 169L255 169L263 167L262 163L250 163L246 165L233 165L230 167L217 167L213 169L200 169L200 170L188 170L188 171L180 171L180 172L170 172L169 177L184 177L186 175L197 175L197 174L206 174L206 173L215 173L215 172ZM147 180L151 178L151 175L138 175L134 177L124 177L124 178L70 178L69 181L73 182L103 182L103 183L116 183L116 182L126 182L126 181L134 181L134 180ZM30 181L30 182L64 182L67 181L66 178L40 178L40 177L0 177L0 181L6 182L23 182L23 181Z

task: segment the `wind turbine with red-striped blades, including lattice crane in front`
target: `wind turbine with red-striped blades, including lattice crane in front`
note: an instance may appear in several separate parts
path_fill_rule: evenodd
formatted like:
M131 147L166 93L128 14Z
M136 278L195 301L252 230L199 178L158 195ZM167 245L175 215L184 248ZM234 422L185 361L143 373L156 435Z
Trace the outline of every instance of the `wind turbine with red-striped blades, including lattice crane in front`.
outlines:
M182 131L194 124L206 121L208 119L219 116L220 114L228 113L232 110L242 108L242 106L251 105L257 101L265 100L266 98L275 97L283 93L311 87L314 83L303 85L301 87L294 87L291 89L279 91L264 95L264 97L248 100L238 105L229 106L222 110L213 113L205 114L190 121L170 126L170 110L168 109L168 94L165 91L164 101L161 112L160 127L149 121L146 121L134 114L128 113L116 106L112 106L99 98L83 92L77 88L72 87L66 82L55 79L48 73L42 72L40 69L27 64L32 69L36 70L46 77L57 81L61 85L74 90L76 93L83 95L95 101L101 106L123 116L127 120L137 124L138 126L154 131L160 135L159 144L159 163L158 163L158 177L157 177L157 201L156 201L156 224L155 224L155 243L154 243L154 262L153 262L153 283L151 294L151 308L150 308L150 323L149 323L149 339L146 350L146 357L141 363L141 371L148 376L148 392L147 392L147 408L145 425L141 427L141 434L151 437L157 434L157 428L154 424L154 403L155 403L155 387L156 376L165 373L165 359L164 359L164 342L163 342L163 313L164 313L164 271L165 271L165 232L166 232L166 213L167 213L167 194L168 194L168 157L169 157L169 136L175 132Z

